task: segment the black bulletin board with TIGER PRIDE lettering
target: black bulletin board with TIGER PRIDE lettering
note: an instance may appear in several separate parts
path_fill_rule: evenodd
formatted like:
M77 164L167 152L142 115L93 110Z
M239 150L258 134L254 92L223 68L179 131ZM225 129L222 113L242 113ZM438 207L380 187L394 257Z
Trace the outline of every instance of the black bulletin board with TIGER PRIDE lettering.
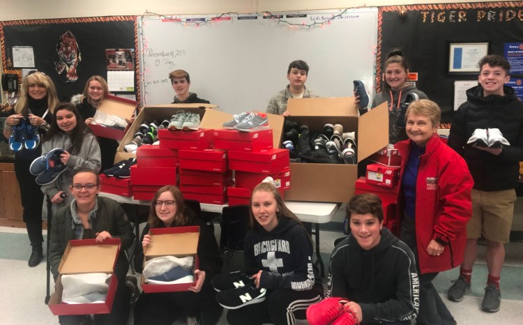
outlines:
M402 17L400 12L406 11ZM377 90L386 54L403 51L411 72L418 73L416 87L453 117L455 81L477 80L478 74L448 73L448 43L489 43L489 54L503 55L505 43L521 42L523 1L446 3L379 8Z

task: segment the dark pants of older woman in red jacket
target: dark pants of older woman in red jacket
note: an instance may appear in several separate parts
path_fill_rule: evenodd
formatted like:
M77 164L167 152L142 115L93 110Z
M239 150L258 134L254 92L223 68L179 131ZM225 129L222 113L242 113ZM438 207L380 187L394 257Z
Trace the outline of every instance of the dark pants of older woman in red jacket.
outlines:
M418 269L420 278L420 309L418 310L418 317L416 317L416 324L455 324L454 317L450 314L450 311L432 284L432 280L437 277L438 273L421 274L420 272L418 247L416 245L416 222L413 218L409 216L403 217L400 239L414 252L416 269Z

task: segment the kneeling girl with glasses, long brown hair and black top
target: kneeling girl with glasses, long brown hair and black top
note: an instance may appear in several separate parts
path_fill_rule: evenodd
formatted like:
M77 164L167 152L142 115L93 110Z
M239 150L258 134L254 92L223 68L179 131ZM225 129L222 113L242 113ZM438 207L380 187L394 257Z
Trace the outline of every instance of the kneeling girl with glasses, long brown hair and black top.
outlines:
M195 270L196 285L187 292L142 293L135 305L135 324L172 324L183 317L187 324L199 324L202 312L204 319L215 304L215 292L211 278L220 273L221 257L218 244L211 228L188 209L176 186L164 186L156 192L151 204L149 220L142 232L142 245L135 250L135 269L142 273L144 249L153 244L149 236L151 228L199 226L197 254L199 270Z

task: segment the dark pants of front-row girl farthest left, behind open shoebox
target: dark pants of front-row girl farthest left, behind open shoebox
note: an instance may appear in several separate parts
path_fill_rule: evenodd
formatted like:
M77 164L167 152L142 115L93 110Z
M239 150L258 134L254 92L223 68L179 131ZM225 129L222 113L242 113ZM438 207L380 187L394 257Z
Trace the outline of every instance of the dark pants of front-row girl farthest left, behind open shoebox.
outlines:
M130 311L130 289L126 286L125 278L118 281L114 302L110 314L94 315L96 325L127 325ZM59 316L61 325L78 325L86 315Z

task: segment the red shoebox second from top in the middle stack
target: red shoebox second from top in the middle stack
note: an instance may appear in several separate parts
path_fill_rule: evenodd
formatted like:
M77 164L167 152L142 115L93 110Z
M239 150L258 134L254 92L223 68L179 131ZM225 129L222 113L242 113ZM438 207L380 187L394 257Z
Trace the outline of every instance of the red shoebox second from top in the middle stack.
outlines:
M178 154L181 169L206 172L225 172L227 170L227 151L223 149L180 150Z

